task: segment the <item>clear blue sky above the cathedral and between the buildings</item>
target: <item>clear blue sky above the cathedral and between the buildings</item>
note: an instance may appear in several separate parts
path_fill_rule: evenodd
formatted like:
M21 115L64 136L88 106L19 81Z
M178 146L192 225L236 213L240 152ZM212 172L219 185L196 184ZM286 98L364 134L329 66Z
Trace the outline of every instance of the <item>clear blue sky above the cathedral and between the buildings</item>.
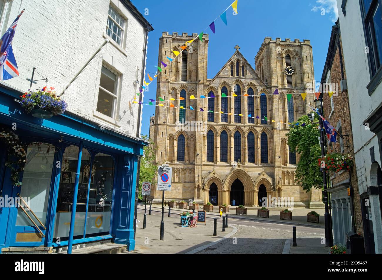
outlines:
M158 62L159 38L162 32L200 33L225 10L233 0L131 0L152 24L147 46L146 72L155 73ZM254 58L265 37L311 40L314 75L320 80L329 45L330 32L337 19L336 0L238 0L238 14L227 10L228 26L218 19L216 33L210 29L207 77L213 78L235 52L240 51L254 67ZM208 4L207 4L208 3ZM321 15L325 9L325 14ZM155 99L155 80L145 92L144 101ZM149 134L149 119L155 106L143 106L142 134Z

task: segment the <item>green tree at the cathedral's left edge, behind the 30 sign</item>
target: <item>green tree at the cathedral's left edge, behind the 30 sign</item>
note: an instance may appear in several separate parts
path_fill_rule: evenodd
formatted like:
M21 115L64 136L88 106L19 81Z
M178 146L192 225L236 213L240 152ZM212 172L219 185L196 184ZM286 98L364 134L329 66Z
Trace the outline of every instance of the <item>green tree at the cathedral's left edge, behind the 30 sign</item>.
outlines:
M150 141L149 146L143 148L143 156L141 157L141 168L139 169L139 192L138 197L142 199L142 183L151 182L152 186L155 185L155 172L157 165L155 162L155 149L154 143L149 139L149 136L142 135L142 139Z

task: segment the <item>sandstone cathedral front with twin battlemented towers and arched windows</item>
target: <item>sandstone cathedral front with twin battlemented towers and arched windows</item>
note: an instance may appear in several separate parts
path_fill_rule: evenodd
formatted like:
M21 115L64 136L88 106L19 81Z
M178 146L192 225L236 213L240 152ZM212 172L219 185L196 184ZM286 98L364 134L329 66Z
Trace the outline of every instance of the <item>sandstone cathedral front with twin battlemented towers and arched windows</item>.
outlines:
M156 164L173 168L165 199L261 206L262 198L276 197L293 200L295 207L322 207L319 190L305 193L296 182L299 156L289 151L285 136L288 122L307 114L314 99L297 94L313 87L310 41L265 38L256 70L235 46L209 79L208 35L181 48L195 37L163 32L159 41L158 65L180 52L158 76L157 100L163 98L164 106L156 107L150 121ZM283 94L274 95L275 89ZM293 94L289 101L287 93ZM275 122L261 120L264 116ZM161 202L162 192L154 188L152 195L154 203Z

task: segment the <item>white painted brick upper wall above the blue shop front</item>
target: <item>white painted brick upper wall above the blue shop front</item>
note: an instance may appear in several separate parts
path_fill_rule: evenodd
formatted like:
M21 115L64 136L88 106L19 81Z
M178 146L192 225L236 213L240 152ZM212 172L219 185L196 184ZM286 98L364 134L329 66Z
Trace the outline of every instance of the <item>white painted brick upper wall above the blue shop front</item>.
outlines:
M9 19L5 28L16 18L21 0L11 1ZM77 74L94 52L104 42L110 2L119 7L127 18L125 25L125 51L127 56L112 43L108 43L68 88L63 98L68 111L105 127L136 136L138 106L129 101L139 92L141 81L144 28L118 0L35 0L23 1L25 8L13 39L13 50L19 69L19 77L6 80L7 85L22 91L29 89L32 69L48 77L48 85L57 92ZM115 124L93 115L97 109L100 70L102 63L109 62L121 72ZM136 74L138 67L138 75ZM34 79L40 79L35 73ZM42 88L44 81L32 85ZM141 125L141 122L139 123ZM123 130L125 132L123 132Z

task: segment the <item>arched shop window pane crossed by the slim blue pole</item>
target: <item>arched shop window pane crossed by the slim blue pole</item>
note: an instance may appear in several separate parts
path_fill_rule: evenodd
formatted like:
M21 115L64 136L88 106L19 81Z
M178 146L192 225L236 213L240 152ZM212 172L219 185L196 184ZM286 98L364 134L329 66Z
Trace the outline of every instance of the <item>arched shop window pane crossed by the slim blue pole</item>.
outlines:
M76 180L77 146L66 147L62 164L60 187L58 189L57 208L53 238L60 238L61 241L68 240L71 212L73 210L74 182ZM82 150L81 172L78 184L76 225L74 227L74 238L83 238L85 229L87 184L83 184L83 166L89 165L90 154L86 149ZM53 239L53 242L56 242Z

